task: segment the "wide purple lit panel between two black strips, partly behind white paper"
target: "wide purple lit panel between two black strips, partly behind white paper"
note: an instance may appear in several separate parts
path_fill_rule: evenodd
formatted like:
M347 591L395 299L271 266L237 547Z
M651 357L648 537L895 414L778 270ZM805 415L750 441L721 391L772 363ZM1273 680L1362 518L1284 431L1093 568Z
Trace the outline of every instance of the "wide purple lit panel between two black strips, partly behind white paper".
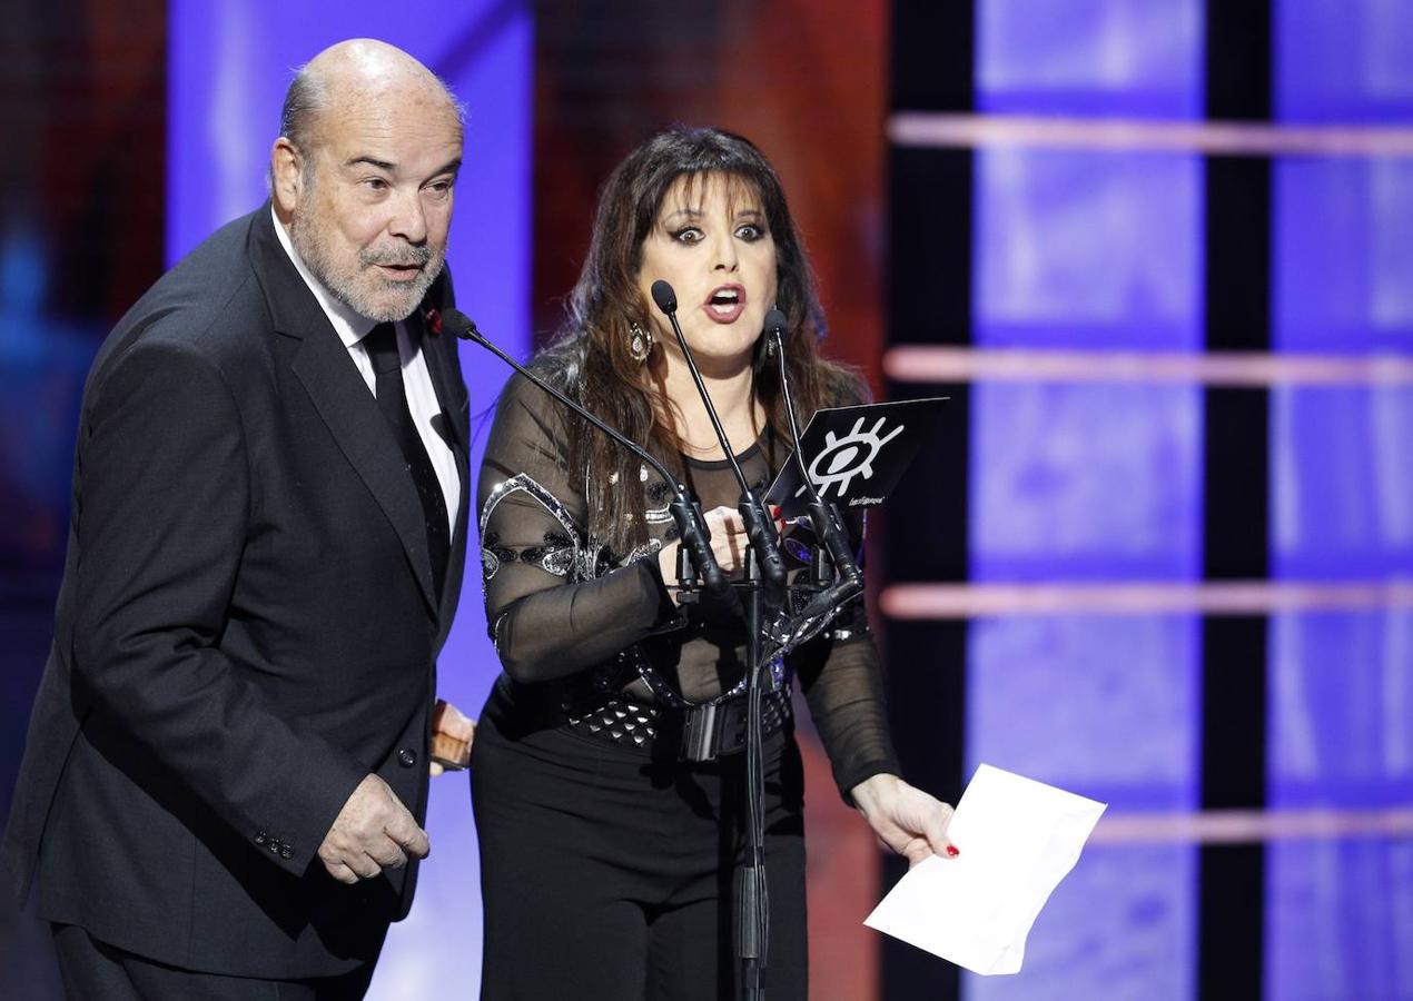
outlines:
M979 6L981 112L1202 114L1198 0ZM1193 154L979 150L979 347L1197 350L1202 172ZM971 576L978 582L1201 575L1201 388L974 385ZM1198 801L1193 616L1010 616L972 624L968 761L1112 803ZM1037 922L1022 978L964 978L971 1001L1188 997L1195 851L1095 846Z

